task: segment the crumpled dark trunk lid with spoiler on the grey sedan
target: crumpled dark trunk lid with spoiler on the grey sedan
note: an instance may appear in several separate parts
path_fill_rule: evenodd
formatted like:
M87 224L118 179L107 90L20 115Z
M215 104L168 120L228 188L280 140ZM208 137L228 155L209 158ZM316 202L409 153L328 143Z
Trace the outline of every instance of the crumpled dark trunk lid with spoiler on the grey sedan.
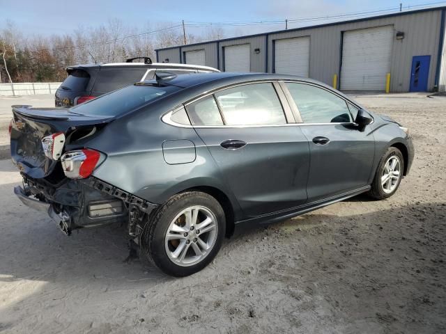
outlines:
M36 179L52 173L59 160L45 155L42 138L58 132L68 134L79 127L107 123L110 116L84 116L65 108L13 106L10 136L11 157L20 171Z

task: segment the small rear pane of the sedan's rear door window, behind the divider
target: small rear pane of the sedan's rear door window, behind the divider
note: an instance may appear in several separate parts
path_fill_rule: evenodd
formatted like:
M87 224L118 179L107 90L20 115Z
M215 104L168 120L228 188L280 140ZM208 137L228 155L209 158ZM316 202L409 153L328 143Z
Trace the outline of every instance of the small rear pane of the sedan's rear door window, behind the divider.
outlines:
M213 95L189 104L187 113L189 113L193 125L223 125L222 116L220 116L220 111Z

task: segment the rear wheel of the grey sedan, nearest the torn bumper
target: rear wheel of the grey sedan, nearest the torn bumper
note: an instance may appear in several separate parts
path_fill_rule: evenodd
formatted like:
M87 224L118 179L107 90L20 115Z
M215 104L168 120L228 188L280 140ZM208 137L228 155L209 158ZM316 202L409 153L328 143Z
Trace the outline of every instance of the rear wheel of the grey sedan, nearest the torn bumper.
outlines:
M224 211L215 198L200 191L179 193L148 218L140 256L168 275L189 276L217 255L225 228Z

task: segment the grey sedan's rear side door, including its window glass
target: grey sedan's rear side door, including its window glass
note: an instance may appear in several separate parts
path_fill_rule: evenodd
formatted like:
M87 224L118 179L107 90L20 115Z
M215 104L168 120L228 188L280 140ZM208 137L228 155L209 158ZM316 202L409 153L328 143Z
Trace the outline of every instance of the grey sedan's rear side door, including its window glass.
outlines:
M220 90L187 104L187 112L245 216L307 201L308 143L300 127L287 124L293 116L278 85Z

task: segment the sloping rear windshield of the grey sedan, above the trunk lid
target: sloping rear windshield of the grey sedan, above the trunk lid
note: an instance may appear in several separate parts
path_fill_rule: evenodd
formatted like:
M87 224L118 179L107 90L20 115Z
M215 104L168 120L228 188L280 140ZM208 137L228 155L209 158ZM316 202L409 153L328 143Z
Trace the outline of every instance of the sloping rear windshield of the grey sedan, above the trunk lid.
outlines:
M112 93L102 95L73 106L70 110L82 115L118 116L132 111L149 101L155 101L164 95L176 92L180 88L175 86L128 86Z

